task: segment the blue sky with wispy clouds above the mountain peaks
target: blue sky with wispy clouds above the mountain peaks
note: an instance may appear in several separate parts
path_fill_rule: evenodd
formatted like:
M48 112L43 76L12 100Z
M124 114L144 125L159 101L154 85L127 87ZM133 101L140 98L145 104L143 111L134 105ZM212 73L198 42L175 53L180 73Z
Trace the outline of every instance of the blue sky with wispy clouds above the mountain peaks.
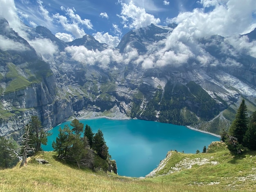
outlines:
M151 21L166 25L166 18L174 18L180 12L202 7L197 0L14 0L14 2L20 12L19 16L27 25L43 25L54 34L71 33L61 26L56 14L65 16L69 23L72 23L70 15L72 11L81 20L88 21L87 24L79 24L85 33L92 35L97 32L108 32L112 36L119 37L131 29L145 27L129 26L132 16L137 17L135 14L132 15L132 11L137 13L141 11L141 18L137 18L141 24L150 25ZM126 9L126 13L122 14L122 9ZM124 23L124 17L129 21ZM74 38L78 37L78 35L72 35Z

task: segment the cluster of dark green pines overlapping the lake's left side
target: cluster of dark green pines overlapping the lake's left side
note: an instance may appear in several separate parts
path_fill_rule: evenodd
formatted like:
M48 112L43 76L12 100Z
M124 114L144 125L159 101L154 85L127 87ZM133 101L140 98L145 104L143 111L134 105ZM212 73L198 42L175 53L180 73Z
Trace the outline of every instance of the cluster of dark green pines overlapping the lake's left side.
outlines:
M91 127L85 125L83 132L84 124L77 119L74 119L70 125L72 129L68 125L63 129L60 127L58 137L52 143L54 151L58 152L58 157L76 163L79 168L97 167L107 171L110 155L102 131L99 129L94 134Z

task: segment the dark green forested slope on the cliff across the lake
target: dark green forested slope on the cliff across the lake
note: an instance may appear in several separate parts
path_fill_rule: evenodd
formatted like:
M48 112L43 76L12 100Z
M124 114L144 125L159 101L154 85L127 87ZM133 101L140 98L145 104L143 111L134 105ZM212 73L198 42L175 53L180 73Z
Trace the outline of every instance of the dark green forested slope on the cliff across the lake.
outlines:
M138 108L135 105L133 114L136 109ZM219 112L216 101L200 85L193 81L186 85L169 81L164 88L164 94L157 91L141 116L163 123L196 125L200 121L209 121Z

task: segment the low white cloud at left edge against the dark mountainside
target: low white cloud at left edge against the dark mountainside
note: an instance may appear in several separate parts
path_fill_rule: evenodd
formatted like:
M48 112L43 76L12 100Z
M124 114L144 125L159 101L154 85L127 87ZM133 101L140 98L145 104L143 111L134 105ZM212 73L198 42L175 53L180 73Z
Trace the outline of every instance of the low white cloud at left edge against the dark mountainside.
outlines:
M20 42L13 41L0 35L0 49L3 51L26 51L28 48Z

